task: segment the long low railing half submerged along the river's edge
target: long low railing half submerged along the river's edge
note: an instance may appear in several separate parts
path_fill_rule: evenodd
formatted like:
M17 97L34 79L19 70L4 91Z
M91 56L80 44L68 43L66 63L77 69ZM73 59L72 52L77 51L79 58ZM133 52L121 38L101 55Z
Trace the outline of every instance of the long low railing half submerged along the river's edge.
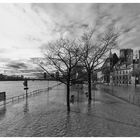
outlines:
M21 94L21 95L18 95L18 96L7 98L5 101L2 101L3 103L0 104L0 106L3 106L5 104L9 104L9 103L13 103L15 101L19 101L20 99L24 99L24 98L31 97L31 96L34 96L34 95L38 95L38 94L40 94L42 92L52 90L54 87L56 87L56 86L58 86L60 84L61 83L53 85L53 86L45 88L45 89L37 89L37 90L31 91L31 92L28 93L28 96L26 96L26 94Z

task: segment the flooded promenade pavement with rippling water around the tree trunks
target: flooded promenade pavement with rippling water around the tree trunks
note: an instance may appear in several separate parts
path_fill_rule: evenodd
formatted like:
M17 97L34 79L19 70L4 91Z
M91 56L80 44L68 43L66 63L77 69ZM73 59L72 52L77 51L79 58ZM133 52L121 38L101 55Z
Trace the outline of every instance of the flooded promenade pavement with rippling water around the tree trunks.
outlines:
M140 108L106 94L85 91L75 95L71 112L66 111L66 89L61 85L28 100L0 108L0 136L90 137L140 136Z

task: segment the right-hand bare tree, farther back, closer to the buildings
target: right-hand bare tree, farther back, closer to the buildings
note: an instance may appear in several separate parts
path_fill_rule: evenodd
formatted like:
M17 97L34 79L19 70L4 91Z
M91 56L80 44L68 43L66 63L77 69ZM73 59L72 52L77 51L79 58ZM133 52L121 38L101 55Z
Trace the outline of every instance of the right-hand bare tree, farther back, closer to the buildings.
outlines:
M100 69L106 58L108 51L117 46L118 33L115 33L113 27L98 32L95 28L89 29L82 36L83 57L81 63L86 69L88 77L88 94L89 101L91 98L91 77L94 71Z

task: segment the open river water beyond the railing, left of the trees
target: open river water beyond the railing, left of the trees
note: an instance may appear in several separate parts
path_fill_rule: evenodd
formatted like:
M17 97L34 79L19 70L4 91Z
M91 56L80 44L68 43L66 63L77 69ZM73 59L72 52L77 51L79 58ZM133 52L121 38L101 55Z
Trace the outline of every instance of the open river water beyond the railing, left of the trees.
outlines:
M28 92L47 88L48 86L53 86L55 84L57 84L55 81L28 81ZM7 98L25 94L23 81L0 81L0 92L3 91L6 92Z

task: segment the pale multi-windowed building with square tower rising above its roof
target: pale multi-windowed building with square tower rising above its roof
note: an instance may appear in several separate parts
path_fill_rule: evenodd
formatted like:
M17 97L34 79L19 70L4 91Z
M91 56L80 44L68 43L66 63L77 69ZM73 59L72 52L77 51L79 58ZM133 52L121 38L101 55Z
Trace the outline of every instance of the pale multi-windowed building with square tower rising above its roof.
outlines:
M120 58L113 68L112 83L115 85L131 84L133 71L133 50L121 49Z

